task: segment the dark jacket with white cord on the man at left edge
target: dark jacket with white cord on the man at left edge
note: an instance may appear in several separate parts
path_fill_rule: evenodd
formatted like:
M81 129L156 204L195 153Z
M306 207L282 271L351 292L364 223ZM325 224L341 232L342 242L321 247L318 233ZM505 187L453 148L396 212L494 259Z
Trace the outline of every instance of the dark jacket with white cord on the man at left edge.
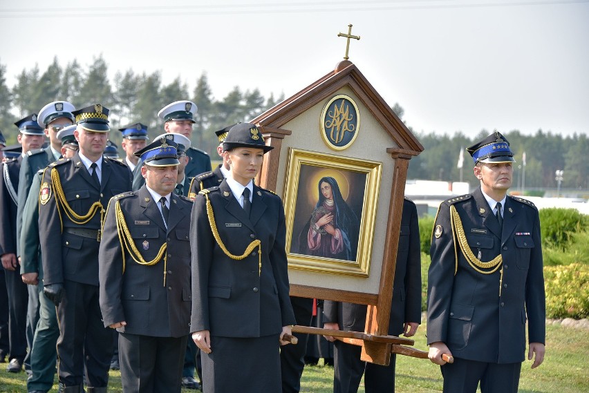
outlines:
M0 255L17 253L17 203L12 198L18 198L21 160L19 156L0 164Z

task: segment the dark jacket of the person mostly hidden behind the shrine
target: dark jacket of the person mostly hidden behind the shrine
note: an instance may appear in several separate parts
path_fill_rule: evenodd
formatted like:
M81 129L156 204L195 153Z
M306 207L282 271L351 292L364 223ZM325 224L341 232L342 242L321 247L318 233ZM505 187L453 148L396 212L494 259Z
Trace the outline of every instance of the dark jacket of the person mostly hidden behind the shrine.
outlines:
M364 332L366 305L324 302L324 322L337 322L339 329ZM403 200L401 231L393 282L389 334L399 336L405 322L421 323L421 252L417 208Z

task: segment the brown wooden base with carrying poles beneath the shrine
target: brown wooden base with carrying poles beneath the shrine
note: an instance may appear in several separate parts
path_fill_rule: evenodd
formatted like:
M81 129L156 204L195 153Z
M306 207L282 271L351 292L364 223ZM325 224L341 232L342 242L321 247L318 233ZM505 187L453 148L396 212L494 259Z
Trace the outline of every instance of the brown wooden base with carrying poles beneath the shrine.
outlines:
M415 341L409 338L397 336L376 336L360 332L344 332L343 330L321 329L319 327L309 327L295 325L292 327L293 333L303 334L321 334L322 336L332 336L344 343L358 345L362 347L363 361L375 363L377 365L389 365L391 354L400 354L412 356L414 358L427 359L427 352L419 349L406 347L405 345L414 345Z

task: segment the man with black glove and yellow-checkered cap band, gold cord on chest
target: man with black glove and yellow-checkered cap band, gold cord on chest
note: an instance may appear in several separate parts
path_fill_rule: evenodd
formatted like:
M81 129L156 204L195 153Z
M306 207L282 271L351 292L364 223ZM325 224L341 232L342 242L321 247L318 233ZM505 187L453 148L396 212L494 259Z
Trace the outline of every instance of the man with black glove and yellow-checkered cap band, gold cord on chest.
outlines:
M106 392L113 335L102 324L98 248L106 206L131 190L131 171L103 157L109 110L95 104L73 112L80 151L50 164L39 193L44 293L57 306L60 392ZM84 362L82 362L84 359Z

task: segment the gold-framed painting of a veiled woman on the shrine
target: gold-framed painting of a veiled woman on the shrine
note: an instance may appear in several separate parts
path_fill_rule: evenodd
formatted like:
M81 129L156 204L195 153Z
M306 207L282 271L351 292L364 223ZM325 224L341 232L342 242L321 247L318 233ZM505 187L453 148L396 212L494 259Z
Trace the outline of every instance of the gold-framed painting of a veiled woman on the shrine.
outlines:
M382 163L288 149L288 267L368 277Z

